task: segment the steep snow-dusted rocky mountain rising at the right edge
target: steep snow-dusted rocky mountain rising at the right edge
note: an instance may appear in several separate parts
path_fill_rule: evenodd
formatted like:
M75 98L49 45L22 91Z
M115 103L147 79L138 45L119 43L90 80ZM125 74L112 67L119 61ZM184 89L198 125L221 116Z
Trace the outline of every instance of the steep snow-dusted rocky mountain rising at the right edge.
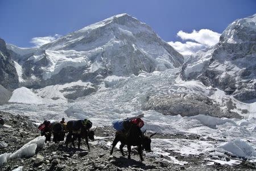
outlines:
M220 41L183 66L187 80L201 80L241 101L256 98L256 14L229 24Z

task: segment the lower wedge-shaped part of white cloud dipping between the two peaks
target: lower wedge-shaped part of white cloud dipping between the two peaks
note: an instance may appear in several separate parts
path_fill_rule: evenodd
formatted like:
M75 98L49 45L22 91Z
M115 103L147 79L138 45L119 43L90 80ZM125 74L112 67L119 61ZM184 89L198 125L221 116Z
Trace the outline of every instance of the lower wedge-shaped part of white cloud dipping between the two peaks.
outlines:
M206 48L205 45L200 43L195 43L192 41L186 41L185 43L181 43L180 41L170 41L168 42L172 47L176 49L176 51L180 52L182 55L192 55L197 51Z

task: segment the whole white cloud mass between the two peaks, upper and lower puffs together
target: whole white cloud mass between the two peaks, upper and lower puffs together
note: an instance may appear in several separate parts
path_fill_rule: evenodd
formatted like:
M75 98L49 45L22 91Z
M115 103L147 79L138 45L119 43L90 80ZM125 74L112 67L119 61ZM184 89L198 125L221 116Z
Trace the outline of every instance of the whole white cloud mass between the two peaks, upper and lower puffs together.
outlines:
M187 56L218 43L220 35L221 34L208 29L201 29L199 31L193 30L191 33L181 30L177 32L177 36L182 40L192 41L185 41L185 43L180 41L170 41L168 44L174 47L176 51L180 52L182 55Z

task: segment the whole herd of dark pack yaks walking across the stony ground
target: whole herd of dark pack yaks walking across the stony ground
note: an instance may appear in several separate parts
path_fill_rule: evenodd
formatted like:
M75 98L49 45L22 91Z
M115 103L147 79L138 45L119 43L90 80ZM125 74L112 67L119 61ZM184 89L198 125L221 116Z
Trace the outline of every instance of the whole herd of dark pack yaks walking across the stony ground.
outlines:
M122 156L125 156L123 153L123 147L127 145L128 149L128 159L131 158L131 146L138 147L138 153L143 161L142 151L145 149L146 151L151 151L151 137L156 134L151 134L150 136L145 135L145 132L141 131L136 124L128 122L126 131L116 131L115 138L112 144L112 149L110 151L110 155L113 154L113 150L115 145L120 141L121 145L119 147ZM88 138L90 140L94 140L94 132L96 132L97 127L92 130L92 122L88 119L84 120L69 120L67 123L65 122L49 122L45 120L38 127L41 135L46 136L46 142L51 141L51 135L53 134L53 141L55 143L59 141L64 141L65 133L68 133L65 145L68 147L68 144L72 142L73 147L75 148L75 140L78 139L78 148L80 149L81 139L85 139L88 150L90 149Z

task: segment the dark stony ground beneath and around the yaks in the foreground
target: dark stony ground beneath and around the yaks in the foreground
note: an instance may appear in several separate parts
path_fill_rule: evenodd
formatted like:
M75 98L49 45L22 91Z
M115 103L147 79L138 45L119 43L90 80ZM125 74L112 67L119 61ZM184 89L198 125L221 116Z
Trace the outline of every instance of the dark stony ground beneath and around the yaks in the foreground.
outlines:
M0 112L0 117L5 118L6 124L11 128L0 128L0 141L5 141L8 146L0 148L0 154L15 152L25 143L39 136L36 126L26 116L12 115ZM23 166L23 170L255 170L256 164L242 161L236 166L205 165L205 156L189 155L168 151L177 160L187 161L188 164L172 164L164 159L164 156L145 156L144 161L139 160L135 148L132 150L131 159L122 157L118 149L110 156L110 142L113 141L114 130L111 127L99 127L96 131L96 140L90 141L90 151L87 150L85 141L82 141L81 149L65 148L63 143L47 143L44 148L38 149L30 158L10 159L0 166L0 170L13 170ZM158 138L169 139L200 139L198 135L184 137L183 135L157 135ZM232 159L229 156L226 160Z

